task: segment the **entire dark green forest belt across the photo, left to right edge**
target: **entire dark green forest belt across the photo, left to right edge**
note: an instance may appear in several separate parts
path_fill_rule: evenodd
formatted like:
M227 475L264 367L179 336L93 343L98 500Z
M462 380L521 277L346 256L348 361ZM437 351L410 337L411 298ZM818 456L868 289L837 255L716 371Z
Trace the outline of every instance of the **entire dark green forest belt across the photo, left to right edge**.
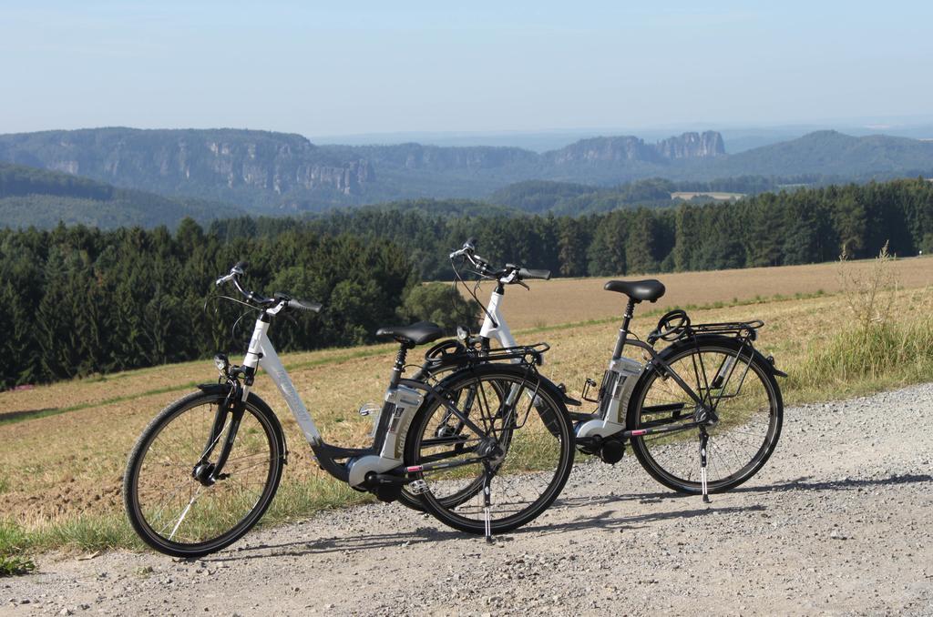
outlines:
M239 351L242 311L213 281L250 262L249 284L324 303L276 333L284 350L353 345L401 319L446 319L448 254L468 237L492 263L555 276L763 267L933 251L933 183L922 178L764 193L737 202L581 216L517 215L422 200L305 219L234 218L174 233L0 230L0 388ZM449 289L445 288L445 289ZM246 323L248 324L248 319ZM242 325L243 322L241 322ZM247 326L248 327L248 326Z

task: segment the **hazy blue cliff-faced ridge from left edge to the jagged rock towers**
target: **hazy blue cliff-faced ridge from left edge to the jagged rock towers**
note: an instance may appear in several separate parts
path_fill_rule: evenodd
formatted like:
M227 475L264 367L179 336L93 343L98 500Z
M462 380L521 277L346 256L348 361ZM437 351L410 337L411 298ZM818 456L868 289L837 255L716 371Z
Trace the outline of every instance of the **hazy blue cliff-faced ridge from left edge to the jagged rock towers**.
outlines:
M0 135L0 160L165 195L321 211L393 199L477 198L531 179L617 184L724 156L718 133L581 140L537 154L510 147L314 145L258 130L50 130Z

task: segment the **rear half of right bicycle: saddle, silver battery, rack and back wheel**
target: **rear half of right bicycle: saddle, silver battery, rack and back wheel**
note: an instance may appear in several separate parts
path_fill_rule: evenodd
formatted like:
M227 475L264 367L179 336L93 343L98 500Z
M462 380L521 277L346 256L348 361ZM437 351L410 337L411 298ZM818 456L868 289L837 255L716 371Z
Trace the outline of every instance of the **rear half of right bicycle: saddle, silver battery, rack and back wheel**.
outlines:
M626 443L665 487L708 493L737 487L758 473L781 434L784 404L775 377L787 377L755 349L759 320L691 323L666 313L646 341L629 332L634 307L664 295L661 281L608 281L605 289L629 300L598 393L587 380L583 398L593 414L572 414L578 448L606 462L622 458ZM659 341L670 343L655 350ZM647 352L642 364L622 355Z

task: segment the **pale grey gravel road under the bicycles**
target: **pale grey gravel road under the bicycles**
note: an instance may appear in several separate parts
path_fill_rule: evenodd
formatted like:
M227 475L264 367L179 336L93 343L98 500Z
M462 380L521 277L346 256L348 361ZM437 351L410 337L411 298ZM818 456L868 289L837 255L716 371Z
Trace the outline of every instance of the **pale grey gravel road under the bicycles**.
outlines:
M0 614L933 614L931 446L933 384L805 405L708 506L627 455L492 545L373 504L194 562L46 555L0 579Z

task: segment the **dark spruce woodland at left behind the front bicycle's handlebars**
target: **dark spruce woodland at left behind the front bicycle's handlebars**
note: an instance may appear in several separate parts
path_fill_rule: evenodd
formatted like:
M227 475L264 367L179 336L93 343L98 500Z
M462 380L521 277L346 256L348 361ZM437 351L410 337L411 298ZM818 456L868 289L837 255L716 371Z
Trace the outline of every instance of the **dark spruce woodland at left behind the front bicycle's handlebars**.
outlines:
M397 245L347 234L220 240L190 219L174 235L0 230L0 388L244 350L253 318L231 332L244 307L218 300L213 282L240 260L259 293L326 304L277 329L285 350L371 340L417 282Z

